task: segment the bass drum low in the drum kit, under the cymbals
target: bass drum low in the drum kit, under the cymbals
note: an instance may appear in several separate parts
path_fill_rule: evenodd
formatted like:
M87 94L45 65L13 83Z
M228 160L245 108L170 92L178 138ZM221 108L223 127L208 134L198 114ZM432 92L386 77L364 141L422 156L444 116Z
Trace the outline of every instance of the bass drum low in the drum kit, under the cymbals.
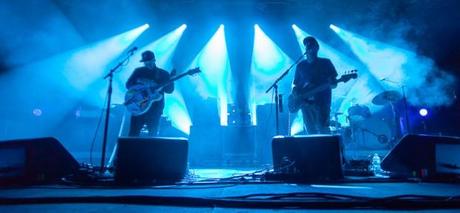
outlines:
M391 129L382 119L369 117L350 126L351 141L356 149L387 150L391 148Z

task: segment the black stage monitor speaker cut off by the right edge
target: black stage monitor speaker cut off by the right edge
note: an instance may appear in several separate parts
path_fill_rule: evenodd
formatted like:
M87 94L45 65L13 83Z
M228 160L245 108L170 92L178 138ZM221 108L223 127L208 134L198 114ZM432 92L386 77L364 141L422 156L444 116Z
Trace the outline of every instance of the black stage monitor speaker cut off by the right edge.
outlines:
M460 174L460 138L406 135L385 156L382 169L399 177Z

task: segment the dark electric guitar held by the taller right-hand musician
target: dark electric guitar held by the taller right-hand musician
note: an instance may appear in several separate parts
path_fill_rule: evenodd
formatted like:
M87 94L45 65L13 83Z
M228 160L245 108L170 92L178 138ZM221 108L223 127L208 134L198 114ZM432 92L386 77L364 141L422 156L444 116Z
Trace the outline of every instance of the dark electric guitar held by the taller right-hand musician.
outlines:
M324 83L320 85L307 85L306 87L300 89L299 92L293 92L289 95L288 98L288 108L289 112L296 113L299 109L304 105L312 102L314 99L314 95L318 92L324 91L332 84L337 84L339 82L347 82L350 79L354 79L358 77L357 70L350 70L346 72L347 74L342 75L339 79L334 80L332 83Z

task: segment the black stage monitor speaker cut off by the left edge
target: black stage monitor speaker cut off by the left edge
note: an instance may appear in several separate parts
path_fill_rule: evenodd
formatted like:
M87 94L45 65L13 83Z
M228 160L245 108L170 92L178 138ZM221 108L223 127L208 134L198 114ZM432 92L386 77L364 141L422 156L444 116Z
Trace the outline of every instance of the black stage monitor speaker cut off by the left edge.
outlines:
M55 138L0 142L0 183L49 183L79 168L78 162Z

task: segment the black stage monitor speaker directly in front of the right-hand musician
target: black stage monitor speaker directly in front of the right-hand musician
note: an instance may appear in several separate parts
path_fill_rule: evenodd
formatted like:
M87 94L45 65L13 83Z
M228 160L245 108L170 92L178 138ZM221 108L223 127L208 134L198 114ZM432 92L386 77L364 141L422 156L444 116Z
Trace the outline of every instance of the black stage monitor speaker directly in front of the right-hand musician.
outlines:
M341 137L333 135L276 136L273 167L285 181L328 181L343 178Z

